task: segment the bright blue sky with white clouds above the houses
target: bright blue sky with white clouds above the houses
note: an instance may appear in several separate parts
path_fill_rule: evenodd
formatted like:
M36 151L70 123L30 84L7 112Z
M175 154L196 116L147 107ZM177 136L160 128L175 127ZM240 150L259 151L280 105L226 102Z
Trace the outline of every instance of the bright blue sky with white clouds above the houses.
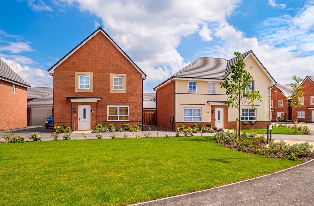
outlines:
M198 57L252 50L278 83L314 76L314 0L7 0L0 58L31 86L99 26L147 74L144 92Z

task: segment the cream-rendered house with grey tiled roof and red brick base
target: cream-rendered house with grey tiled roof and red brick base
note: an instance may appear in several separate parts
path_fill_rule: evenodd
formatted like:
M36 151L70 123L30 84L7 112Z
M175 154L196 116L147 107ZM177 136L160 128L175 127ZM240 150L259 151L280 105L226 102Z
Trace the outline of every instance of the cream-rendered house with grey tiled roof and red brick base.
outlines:
M251 88L262 95L261 102L254 102L256 110L251 105L241 106L241 127L267 128L271 117L268 95L276 81L252 51L243 53L241 58L245 60L246 69L253 66ZM218 128L235 128L239 111L224 105L228 96L219 85L223 76L230 77L232 64L236 64L236 58L200 57L156 86L157 126L175 130L180 124L211 123Z

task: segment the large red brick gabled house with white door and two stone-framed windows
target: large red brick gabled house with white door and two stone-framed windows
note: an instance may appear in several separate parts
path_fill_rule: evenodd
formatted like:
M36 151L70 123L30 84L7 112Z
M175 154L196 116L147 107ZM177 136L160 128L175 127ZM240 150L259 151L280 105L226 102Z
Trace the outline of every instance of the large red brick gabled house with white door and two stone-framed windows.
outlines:
M142 124L146 74L99 27L48 69L54 126L92 130L97 124Z

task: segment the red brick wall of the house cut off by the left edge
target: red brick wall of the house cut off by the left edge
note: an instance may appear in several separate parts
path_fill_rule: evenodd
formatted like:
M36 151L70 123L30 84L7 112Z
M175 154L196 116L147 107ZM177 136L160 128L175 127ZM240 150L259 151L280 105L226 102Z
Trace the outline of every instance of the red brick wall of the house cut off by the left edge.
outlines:
M0 80L0 130L27 127L27 90L15 84Z

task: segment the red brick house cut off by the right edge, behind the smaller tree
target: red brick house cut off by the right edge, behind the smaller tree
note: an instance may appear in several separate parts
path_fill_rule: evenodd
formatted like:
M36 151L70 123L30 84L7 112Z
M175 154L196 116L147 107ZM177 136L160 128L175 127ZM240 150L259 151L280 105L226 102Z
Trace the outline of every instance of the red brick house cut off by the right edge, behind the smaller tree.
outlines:
M300 99L304 106L298 109L292 108L292 120L295 120L298 115L298 121L314 121L314 77L306 76L306 78L301 82L304 88L304 96Z

